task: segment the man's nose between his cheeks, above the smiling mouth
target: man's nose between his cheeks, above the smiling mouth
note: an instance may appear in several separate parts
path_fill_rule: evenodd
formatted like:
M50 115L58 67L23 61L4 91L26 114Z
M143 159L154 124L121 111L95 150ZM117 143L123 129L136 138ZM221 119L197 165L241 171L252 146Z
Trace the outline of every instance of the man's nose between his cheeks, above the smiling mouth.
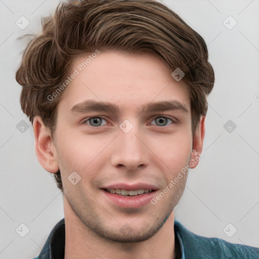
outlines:
M119 130L114 140L111 163L114 167L125 166L128 170L144 168L149 162L147 138L143 138L135 127L128 133Z

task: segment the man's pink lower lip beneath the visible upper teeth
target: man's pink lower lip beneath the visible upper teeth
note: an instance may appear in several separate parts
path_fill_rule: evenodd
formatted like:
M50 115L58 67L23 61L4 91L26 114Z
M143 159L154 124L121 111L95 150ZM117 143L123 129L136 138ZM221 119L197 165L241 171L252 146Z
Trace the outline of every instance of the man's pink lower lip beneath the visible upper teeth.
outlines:
M156 191L143 193L136 196L122 196L118 194L113 194L105 190L101 190L104 195L110 199L113 203L121 208L139 208L147 203L151 202L151 199L156 195Z

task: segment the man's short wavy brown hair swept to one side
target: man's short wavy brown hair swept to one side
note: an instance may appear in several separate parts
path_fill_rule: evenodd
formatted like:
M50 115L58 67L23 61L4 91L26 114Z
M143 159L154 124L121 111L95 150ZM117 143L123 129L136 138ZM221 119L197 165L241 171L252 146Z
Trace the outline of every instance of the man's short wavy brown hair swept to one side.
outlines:
M84 0L77 7L60 3L54 17L41 20L42 33L26 47L16 80L20 103L33 122L39 115L53 134L57 106L64 91L52 95L66 79L74 58L95 50L154 53L171 71L180 68L191 100L192 133L206 115L206 96L214 84L203 38L176 13L153 0ZM60 170L55 174L63 191Z

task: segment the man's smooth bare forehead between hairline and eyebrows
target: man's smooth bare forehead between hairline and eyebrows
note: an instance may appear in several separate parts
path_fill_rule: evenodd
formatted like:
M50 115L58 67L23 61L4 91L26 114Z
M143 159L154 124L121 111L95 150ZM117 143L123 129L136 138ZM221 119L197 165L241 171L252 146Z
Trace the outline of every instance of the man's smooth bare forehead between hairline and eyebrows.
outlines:
M136 112L150 102L175 100L190 110L186 83L176 81L156 55L115 51L87 54L74 59L70 73L76 76L60 103L66 110L85 100L115 103L120 111Z

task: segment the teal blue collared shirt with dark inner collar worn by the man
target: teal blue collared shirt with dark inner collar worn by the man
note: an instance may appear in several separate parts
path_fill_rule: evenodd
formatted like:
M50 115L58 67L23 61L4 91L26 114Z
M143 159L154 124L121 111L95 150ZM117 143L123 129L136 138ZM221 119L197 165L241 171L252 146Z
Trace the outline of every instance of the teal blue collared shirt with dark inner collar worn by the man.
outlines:
M175 220L176 242L181 247L181 259L259 259L259 248L232 244L220 238L198 236ZM56 224L44 247L34 259L64 259L65 219Z

